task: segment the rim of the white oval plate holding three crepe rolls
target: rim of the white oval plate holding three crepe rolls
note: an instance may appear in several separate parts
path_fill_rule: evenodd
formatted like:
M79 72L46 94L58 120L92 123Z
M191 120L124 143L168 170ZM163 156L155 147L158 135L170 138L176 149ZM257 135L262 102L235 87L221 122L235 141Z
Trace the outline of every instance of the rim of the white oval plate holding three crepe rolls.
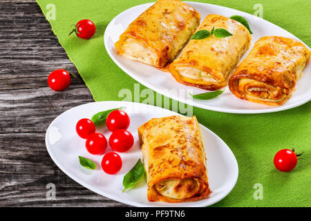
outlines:
M121 68L124 73L126 73L126 75L129 75L130 77L132 77L133 79L135 79L135 81L138 81L140 84L146 86L147 88L150 88L151 90L154 90L156 91L157 93L160 93L161 95L164 95L166 97L170 97L171 99L175 99L176 101L178 102L182 102L182 103L185 103L185 104L188 104L188 105L191 105L191 106L196 106L198 108L202 108L202 109L205 109L205 110L209 110L209 111L217 111L217 112L220 112L220 113L237 113L237 114L258 114L258 113L274 113L274 112L279 112L279 111L285 111L285 110L289 110L289 109L292 109L292 108L295 108L297 106L301 106L303 104L306 104L308 102L310 102L311 100L311 93L310 93L310 96L309 97L306 97L305 99L301 99L300 101L294 103L294 104L290 104L289 106L267 106L267 108L263 108L263 109L257 109L257 110L249 110L249 109L230 109L230 108L220 108L220 107L216 107L216 106L211 106L211 105L206 105L206 104L199 104L199 103L196 103L193 101L191 101L190 99L185 99L183 97L178 97L176 95L173 95L171 93L168 93L166 92L165 90L161 90L159 88L157 88L156 86L153 86L152 84L149 84L148 82L146 81L142 81L140 80L140 77L136 77L135 74L132 74L131 71L129 71L125 66L123 66L119 61L117 61L117 59L115 59L115 57L111 54L111 50L108 50L108 35L106 35L107 32L109 32L109 30L111 30L111 26L112 26L112 23L118 18L120 17L122 14L126 13L127 11L129 10L133 10L133 8L138 8L140 6L151 6L153 3L155 2L151 2L151 3L143 3L143 4L140 4L138 6L133 6L131 8L128 8L122 12L120 12L118 15L116 15L108 24L108 26L106 27L106 30L104 32L104 47L106 49L106 52L109 54L109 57L111 57L111 59L113 60L113 62L119 67ZM210 4L210 3L202 3L202 2L196 2L196 1L185 1L185 3L190 3L190 4L198 4L198 5L207 5L207 6L216 6L216 7L219 7L219 8L225 8L226 10L234 10L234 11L237 11L237 12L241 12L241 13L245 13L245 14L248 14L252 17L256 17L252 14L249 14L247 12L243 12L241 10L236 10L234 8L229 8L229 7L225 7L225 6L218 6L218 5L214 5L214 4ZM276 24L270 22L270 21L267 21L261 17L256 17L256 19L259 19L261 21L265 21L265 22L268 22L270 23L270 25L272 26L276 26ZM281 28L280 26L276 26L277 28ZM294 39L298 39L299 41L301 41L301 39L299 39L298 37L296 37L295 35L293 35L291 32L281 28L281 30L287 32L288 34L291 35L292 38ZM309 46L307 44L305 44L303 41L301 41L307 48L308 50L311 50L309 48ZM310 65L310 64L309 64ZM190 86L189 86L190 87ZM263 104L264 105L264 104Z

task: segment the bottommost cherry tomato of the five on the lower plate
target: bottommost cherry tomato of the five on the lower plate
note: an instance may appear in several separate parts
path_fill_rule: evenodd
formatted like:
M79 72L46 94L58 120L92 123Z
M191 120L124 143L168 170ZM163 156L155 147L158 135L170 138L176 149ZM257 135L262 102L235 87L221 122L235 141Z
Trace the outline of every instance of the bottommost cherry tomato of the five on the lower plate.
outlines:
M105 173L115 174L120 171L121 167L122 159L117 153L106 153L104 157L102 157L102 169Z

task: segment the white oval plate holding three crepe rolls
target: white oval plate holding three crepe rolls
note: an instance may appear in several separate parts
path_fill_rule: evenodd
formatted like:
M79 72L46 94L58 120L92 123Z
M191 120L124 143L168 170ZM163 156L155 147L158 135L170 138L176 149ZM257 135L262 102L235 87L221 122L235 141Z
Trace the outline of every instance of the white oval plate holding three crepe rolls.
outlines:
M265 21L260 17L254 15L249 15L248 13L234 10L232 8L226 8L223 6L214 6L207 3L196 3L188 2L187 4L194 7L201 15L201 21L209 14L218 14L225 17L231 17L232 15L241 15L247 19L249 26L254 33L252 35L252 45L250 49L253 48L254 43L261 37L266 35L277 35L282 37L290 37L292 39L297 39L290 32L280 28L279 26ZM206 101L192 99L189 96L189 92L194 94L205 93L207 90L202 90L200 88L195 88L191 86L185 86L178 83L170 73L162 72L151 66L142 64L138 61L131 61L122 56L117 55L114 43L119 39L120 35L129 26L138 15L140 15L144 10L149 8L153 3L146 3L140 6L135 6L129 8L124 12L117 15L107 26L104 34L104 44L110 57L113 59L115 64L119 66L125 73L133 77L136 81L139 81L144 86L155 90L156 92L171 97L180 102L190 104L192 106L198 106L199 108L204 108L211 111L219 111L226 113L270 113L275 111L283 111L289 108L294 108L301 104L305 104L311 99L311 66L305 67L303 77L298 81L297 90L294 91L292 97L283 104L282 106L266 106L264 104L256 104L252 102L247 102L242 99L238 99L230 92L228 87L225 87L225 92L215 98ZM280 19L282 19L280 17ZM299 40L299 39L297 39ZM308 47L308 46L307 46ZM249 49L249 50L250 50ZM242 57L241 61L248 55L249 50ZM310 48L309 48L310 50ZM176 90L180 93L176 93ZM182 92L183 91L183 92Z

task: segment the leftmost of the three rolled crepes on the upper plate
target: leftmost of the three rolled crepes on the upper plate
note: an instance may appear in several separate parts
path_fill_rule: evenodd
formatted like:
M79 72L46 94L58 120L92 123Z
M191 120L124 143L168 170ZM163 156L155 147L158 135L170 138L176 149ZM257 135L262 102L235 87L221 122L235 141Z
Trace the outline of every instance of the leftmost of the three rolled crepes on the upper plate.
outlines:
M200 24L200 14L180 0L158 0L142 12L115 43L117 54L163 67Z

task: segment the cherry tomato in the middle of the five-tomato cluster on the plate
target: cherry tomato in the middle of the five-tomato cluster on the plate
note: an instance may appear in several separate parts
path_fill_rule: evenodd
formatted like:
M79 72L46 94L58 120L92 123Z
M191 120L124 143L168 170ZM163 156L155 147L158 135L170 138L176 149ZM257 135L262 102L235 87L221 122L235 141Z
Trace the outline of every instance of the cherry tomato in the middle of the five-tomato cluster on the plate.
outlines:
M85 142L88 153L100 155L106 151L107 140L101 133L92 133Z

